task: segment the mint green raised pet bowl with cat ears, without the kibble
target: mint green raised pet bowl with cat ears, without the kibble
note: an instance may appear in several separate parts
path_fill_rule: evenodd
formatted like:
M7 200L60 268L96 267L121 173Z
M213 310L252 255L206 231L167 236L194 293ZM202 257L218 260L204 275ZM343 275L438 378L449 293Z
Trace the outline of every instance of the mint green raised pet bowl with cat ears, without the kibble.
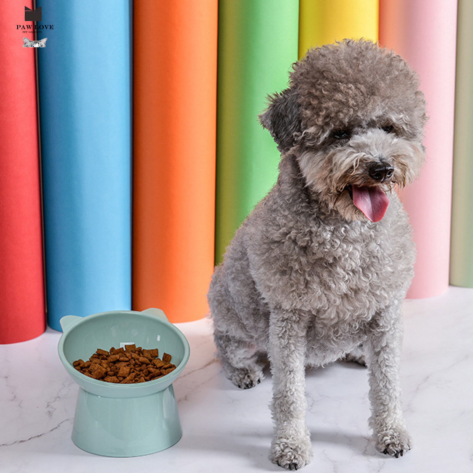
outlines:
M86 452L140 456L174 445L182 437L172 383L189 359L189 343L160 309L113 311L61 318L59 358L79 385L72 441ZM72 362L88 360L97 348L134 343L169 353L176 368L153 381L114 384L79 373Z

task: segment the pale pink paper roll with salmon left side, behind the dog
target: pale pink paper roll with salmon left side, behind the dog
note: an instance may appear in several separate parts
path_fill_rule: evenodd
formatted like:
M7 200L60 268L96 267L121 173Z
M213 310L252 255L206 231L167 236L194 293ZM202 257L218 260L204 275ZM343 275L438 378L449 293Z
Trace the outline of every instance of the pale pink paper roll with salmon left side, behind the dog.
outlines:
M429 115L420 179L401 193L417 245L409 298L436 296L448 287L456 10L456 0L380 1L380 43L418 72Z

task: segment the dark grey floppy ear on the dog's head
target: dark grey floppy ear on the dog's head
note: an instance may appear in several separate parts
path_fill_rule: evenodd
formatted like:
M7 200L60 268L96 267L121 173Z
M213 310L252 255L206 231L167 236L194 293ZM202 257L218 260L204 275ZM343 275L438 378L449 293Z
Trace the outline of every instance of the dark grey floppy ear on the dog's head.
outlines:
M281 152L294 145L294 133L300 132L301 114L298 92L286 89L269 97L269 106L260 116L260 122L273 137Z

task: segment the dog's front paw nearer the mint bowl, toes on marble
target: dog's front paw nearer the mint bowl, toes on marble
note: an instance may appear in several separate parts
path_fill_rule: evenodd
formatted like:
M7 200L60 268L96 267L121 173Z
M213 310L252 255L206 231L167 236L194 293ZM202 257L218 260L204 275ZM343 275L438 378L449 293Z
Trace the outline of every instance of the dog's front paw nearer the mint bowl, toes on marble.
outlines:
M270 459L286 470L299 470L312 460L310 438L274 440L271 446Z

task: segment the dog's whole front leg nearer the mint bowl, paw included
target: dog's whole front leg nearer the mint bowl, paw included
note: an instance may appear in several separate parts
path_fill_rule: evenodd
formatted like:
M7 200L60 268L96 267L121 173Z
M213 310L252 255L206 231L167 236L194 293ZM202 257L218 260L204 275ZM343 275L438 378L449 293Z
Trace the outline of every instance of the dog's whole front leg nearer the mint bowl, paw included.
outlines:
M306 426L305 355L307 315L272 310L269 356L272 371L272 417L275 422L271 460L297 470L312 458Z

